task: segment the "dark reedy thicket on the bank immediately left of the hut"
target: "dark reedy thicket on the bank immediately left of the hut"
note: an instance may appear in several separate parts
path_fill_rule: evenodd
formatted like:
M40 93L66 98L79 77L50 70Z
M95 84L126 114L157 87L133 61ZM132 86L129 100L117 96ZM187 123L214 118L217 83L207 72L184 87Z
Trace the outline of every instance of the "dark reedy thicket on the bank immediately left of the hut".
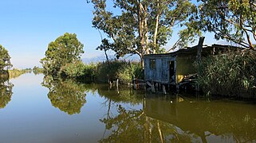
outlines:
M132 78L143 79L143 71L139 63L126 62L123 60L110 61L97 64L96 79L100 82L107 82L108 79L119 79L120 83L129 83Z

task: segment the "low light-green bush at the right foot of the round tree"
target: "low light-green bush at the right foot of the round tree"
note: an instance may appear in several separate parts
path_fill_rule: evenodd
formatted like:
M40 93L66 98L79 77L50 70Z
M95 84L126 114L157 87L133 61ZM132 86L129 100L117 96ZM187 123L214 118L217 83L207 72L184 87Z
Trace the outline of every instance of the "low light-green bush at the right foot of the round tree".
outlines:
M96 64L83 64L81 61L77 61L61 67L61 75L69 79L91 82L95 79L95 70Z

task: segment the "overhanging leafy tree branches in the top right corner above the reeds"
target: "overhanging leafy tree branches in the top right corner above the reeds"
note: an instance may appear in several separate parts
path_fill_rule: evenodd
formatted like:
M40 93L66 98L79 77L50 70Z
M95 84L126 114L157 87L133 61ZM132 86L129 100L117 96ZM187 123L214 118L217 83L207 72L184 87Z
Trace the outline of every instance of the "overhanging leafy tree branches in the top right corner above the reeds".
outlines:
M245 48L256 48L256 2L254 0L201 0L199 24L215 38Z

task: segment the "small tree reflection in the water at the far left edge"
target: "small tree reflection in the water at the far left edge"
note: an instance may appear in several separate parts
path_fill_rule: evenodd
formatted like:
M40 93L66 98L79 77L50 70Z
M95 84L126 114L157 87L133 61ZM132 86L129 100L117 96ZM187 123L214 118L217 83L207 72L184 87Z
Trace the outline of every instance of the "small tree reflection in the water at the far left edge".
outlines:
M0 108L4 108L11 100L14 84L8 79L0 79Z

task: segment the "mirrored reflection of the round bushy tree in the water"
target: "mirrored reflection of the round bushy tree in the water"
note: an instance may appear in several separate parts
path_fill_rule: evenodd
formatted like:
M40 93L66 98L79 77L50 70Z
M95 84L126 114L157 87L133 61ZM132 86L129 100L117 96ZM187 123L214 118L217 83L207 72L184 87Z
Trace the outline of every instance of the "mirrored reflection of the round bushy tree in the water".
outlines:
M89 88L85 84L79 84L73 80L53 79L52 76L45 76L42 86L49 89L48 98L52 105L67 114L79 114L84 106L85 91Z

